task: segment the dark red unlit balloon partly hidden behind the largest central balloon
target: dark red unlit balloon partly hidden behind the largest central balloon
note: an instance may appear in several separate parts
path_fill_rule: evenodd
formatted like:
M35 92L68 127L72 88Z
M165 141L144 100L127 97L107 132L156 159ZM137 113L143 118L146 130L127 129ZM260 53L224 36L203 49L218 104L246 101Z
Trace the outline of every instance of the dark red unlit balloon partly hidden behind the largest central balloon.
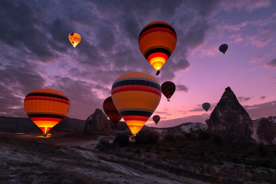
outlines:
M114 127L116 127L117 123L122 119L122 116L117 111L111 96L107 97L107 99L103 102L103 111L115 125Z

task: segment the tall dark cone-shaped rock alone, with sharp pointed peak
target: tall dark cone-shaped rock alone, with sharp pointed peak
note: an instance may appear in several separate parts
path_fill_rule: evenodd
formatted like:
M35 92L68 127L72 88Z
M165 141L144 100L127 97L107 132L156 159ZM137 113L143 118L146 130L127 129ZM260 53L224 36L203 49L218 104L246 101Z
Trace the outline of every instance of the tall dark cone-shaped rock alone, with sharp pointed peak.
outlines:
M224 142L245 142L246 130L251 118L236 95L227 87L209 118L211 134L221 136Z

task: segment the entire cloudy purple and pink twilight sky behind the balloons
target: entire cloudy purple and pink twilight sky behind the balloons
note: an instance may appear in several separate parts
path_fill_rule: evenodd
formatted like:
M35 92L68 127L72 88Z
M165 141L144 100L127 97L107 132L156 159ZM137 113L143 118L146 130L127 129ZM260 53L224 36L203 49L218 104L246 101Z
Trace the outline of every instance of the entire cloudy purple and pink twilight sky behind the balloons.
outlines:
M68 117L86 119L129 71L176 84L152 114L161 117L156 127L205 122L228 86L251 119L276 116L276 1L0 2L0 116L28 117L25 96L50 88L70 100ZM142 28L156 20L177 35L158 76L138 46ZM81 35L76 48L71 32ZM146 125L155 126L152 117Z

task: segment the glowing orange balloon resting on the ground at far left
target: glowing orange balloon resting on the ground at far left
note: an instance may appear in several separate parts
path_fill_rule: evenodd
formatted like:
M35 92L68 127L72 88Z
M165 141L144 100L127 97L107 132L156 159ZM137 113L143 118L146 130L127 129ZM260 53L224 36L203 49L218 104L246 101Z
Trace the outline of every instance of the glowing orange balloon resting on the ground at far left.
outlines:
M68 113L69 100L53 89L37 89L24 99L24 109L29 118L46 134Z

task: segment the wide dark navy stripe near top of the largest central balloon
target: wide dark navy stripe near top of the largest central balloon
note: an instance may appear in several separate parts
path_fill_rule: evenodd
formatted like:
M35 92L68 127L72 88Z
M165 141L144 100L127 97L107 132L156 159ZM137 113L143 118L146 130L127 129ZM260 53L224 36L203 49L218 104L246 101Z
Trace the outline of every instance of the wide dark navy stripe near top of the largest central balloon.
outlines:
M161 86L156 84L155 82L146 81L146 80L139 80L139 79L131 79L131 80L124 80L116 82L112 85L112 89L119 87L119 86L126 86L126 85L142 85L142 86L150 86L154 87L161 91Z

